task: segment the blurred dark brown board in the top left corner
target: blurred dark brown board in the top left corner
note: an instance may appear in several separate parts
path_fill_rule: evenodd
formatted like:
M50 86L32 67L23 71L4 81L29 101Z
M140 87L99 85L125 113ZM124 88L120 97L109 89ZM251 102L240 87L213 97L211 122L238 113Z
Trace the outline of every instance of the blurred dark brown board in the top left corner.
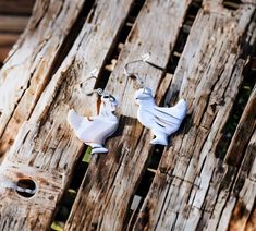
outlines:
M1 0L0 1L0 13L5 14L26 14L29 15L33 10L35 0Z

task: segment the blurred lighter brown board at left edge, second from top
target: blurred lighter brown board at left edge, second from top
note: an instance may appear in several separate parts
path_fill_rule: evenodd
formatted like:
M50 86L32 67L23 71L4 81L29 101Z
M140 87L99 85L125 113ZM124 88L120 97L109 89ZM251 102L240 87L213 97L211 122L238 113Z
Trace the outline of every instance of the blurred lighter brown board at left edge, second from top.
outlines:
M22 33L28 22L28 16L0 15L0 32Z

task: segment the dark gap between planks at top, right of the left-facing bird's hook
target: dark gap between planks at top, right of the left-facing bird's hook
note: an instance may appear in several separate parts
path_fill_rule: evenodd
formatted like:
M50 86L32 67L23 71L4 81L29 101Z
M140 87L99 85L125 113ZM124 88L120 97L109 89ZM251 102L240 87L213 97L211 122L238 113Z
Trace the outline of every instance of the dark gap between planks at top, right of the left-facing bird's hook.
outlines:
M167 73L174 74L180 57L184 50L191 27L202 7L202 0L193 0L184 19L182 28L179 32L178 39L167 64Z

